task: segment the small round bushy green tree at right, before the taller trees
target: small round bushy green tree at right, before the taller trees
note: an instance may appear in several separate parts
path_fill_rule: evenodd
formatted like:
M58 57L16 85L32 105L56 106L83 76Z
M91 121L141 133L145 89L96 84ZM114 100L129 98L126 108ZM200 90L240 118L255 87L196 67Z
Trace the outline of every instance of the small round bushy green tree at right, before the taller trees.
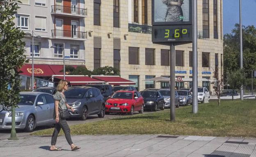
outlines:
M245 72L243 71L243 69L238 69L228 72L228 76L228 84L229 87L233 89L232 100L234 100L233 93L235 89L243 89L243 86L245 85Z

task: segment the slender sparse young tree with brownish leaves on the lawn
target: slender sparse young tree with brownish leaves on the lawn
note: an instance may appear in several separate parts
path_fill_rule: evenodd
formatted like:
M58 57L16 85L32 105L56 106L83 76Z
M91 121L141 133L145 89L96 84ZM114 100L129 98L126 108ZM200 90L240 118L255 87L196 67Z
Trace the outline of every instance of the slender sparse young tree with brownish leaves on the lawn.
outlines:
M224 83L223 83L223 75L220 76L219 78L219 68L216 68L213 72L213 78L215 80L215 82L212 82L211 84L213 85L213 89L217 95L217 102L218 102L218 106L220 105L220 95L222 93L222 90L223 90L223 86L224 86Z

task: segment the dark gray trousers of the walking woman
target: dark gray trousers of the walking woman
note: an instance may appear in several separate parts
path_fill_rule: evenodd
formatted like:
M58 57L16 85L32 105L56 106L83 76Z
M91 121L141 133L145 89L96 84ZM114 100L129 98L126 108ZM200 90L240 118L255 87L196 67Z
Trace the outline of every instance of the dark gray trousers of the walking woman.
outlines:
M59 118L59 123L55 124L55 128L54 128L54 131L53 131L52 142L51 142L52 146L56 144L57 137L58 137L58 134L59 134L59 131L60 131L61 128L64 131L66 140L69 143L69 145L73 144L72 139L71 139L71 135L70 135L70 128L69 128L68 123L66 122L66 119Z

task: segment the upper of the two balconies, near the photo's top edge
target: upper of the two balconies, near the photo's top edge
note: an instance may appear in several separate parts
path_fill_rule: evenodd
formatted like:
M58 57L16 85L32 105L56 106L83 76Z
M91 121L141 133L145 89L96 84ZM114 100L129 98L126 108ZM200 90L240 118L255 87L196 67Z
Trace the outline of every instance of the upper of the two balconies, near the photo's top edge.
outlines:
M87 17L87 9L66 7L62 5L52 5L51 14L69 17Z

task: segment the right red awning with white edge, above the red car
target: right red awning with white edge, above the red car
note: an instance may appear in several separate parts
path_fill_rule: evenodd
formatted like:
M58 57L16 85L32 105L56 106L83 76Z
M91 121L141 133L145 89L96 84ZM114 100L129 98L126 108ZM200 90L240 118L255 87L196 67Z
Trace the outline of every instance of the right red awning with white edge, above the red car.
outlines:
M98 80L102 80L105 81L108 84L111 85L130 85L130 84L136 84L136 82L130 81L130 80L126 80L124 78L121 78L119 76L96 76L96 75L92 75L92 78L98 79Z

